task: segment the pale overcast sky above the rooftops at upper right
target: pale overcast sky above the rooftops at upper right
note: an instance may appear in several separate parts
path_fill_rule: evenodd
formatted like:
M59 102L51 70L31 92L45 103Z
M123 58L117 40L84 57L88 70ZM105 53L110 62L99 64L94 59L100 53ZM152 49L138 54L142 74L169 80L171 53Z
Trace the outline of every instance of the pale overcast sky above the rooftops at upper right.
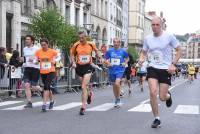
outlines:
M200 30L200 0L146 0L146 12L163 11L167 31L184 35Z

